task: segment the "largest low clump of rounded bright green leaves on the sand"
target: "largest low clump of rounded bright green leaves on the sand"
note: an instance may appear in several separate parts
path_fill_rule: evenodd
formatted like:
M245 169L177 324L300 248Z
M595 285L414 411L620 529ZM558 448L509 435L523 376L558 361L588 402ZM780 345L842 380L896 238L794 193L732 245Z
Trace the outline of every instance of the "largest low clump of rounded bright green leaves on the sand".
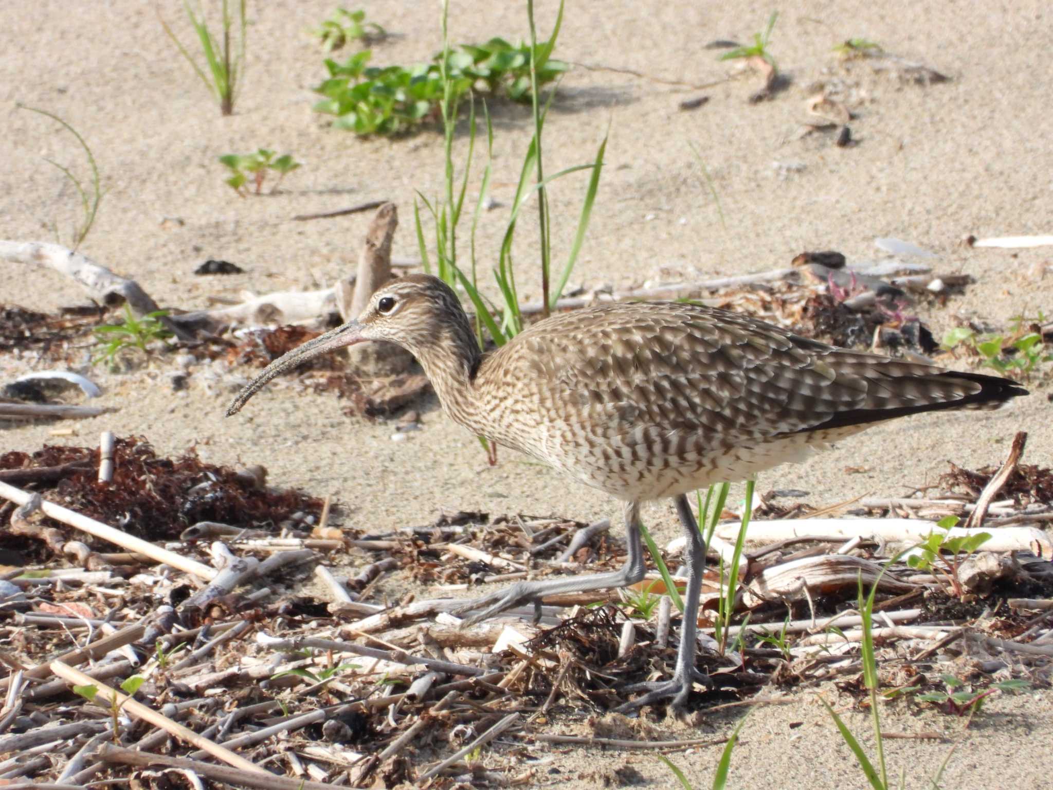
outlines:
M315 88L325 98L315 104L315 112L335 116L335 127L360 136L396 135L438 120L445 126L444 110L456 111L466 93L528 101L536 87L570 67L550 57L548 44L539 50L536 44L513 46L493 38L454 50L445 36L443 42L431 63L409 68L371 66L370 50L343 63L326 59L329 79ZM456 112L453 117L457 118Z

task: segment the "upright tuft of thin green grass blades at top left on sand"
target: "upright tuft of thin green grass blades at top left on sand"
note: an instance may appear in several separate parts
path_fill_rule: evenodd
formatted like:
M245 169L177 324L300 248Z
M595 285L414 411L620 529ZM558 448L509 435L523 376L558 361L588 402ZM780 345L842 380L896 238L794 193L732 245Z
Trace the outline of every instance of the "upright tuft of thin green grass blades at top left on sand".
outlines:
M208 28L204 11L198 5L195 12L191 7L190 0L184 0L183 8L186 11L186 18L191 26L197 34L198 43L201 45L201 53L204 56L207 74L198 65L197 60L190 51L183 46L182 42L168 26L167 22L158 12L158 19L161 26L179 50L180 54L191 64L194 73L204 83L204 86L215 96L219 102L219 112L222 115L231 115L234 112L234 99L237 88L241 84L244 75L245 61L245 5L247 0L236 0L237 21L240 29L238 42L231 41L231 31L234 27L235 17L231 14L227 0L222 0L220 8L220 34L215 37Z

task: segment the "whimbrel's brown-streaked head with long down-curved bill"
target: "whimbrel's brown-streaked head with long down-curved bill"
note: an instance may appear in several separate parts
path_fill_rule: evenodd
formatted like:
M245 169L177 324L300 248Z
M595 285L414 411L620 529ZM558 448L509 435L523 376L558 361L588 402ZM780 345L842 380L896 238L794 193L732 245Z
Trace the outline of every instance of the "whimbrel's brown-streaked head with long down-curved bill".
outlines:
M384 340L420 356L436 343L474 344L471 328L457 295L438 277L414 274L381 285L370 297L358 318L296 347L271 362L247 384L226 410L226 416L241 407L273 378L309 359L345 345ZM475 347L476 350L478 347Z

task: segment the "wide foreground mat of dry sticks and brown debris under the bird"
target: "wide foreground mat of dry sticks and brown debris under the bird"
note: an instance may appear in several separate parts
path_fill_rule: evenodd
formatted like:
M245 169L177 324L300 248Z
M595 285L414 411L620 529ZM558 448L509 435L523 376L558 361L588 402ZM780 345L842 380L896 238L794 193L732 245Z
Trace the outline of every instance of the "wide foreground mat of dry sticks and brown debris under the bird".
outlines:
M152 565L134 551L105 553L98 540L90 548L65 522L40 520L28 492L16 496L23 507L0 509L11 524L5 534L20 532L23 551L26 534L41 538L34 557L0 580L0 690L7 692L0 778L147 786L157 777L143 767L160 764L271 789L338 781L514 785L535 777L532 764L541 765L552 743L701 743L664 739L660 711L621 727L625 737L610 737L607 711L633 684L667 677L673 665L675 611L656 592L655 573L639 590L547 599L538 625L533 608L459 628L445 614L453 598L377 600L404 590L409 578L440 594L471 594L470 587L528 575L615 567L623 551L607 522L455 513L378 534L309 529L312 518L294 519L293 511L313 516L321 503L267 491L258 470L208 467L193 455L159 458L143 439L117 440L114 460L108 483L97 479L98 453L83 448L8 453L0 466L23 474L21 485L36 489L45 511L62 501L108 520L120 528L110 538L120 546L138 531L159 544L162 561L171 550L172 561L190 570ZM1053 473L1016 471L984 529L1053 520L1049 498L1038 498ZM830 680L861 700L858 575L880 571L895 553L879 537L894 516L965 514L992 476L952 474L958 493L801 505L798 512L814 515L854 508L887 518L868 520L875 537L850 540L810 537L809 519L798 519L789 522L798 526L795 536L749 550L723 632L714 627L718 580L709 577L698 667L713 688L696 695L695 710L704 715L768 698L756 696L760 689L771 696ZM0 493L15 496L3 486ZM786 516L786 508L776 510L780 493L764 507ZM217 520L184 529L201 515ZM361 565L338 578L323 567L337 556ZM305 587L311 566L329 595L307 592L318 589ZM985 584L955 596L934 570L897 561L887 571L874 633L883 687L900 697L891 704L927 704L918 692L938 696L949 675L977 694L1002 693L996 684L1009 676L1049 682L1049 558L980 547L959 572ZM144 678L138 688L134 677ZM74 686L95 686L94 700ZM134 691L134 700L125 703L120 688ZM553 734L554 722L583 734Z

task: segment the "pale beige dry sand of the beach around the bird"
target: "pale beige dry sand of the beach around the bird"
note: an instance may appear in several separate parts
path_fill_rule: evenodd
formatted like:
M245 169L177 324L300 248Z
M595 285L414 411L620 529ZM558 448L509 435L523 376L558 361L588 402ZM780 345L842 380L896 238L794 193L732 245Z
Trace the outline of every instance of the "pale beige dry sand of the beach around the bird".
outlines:
M375 62L426 59L440 45L437 4L361 3L369 18L397 36L376 47ZM749 39L762 27L769 5L571 3L558 56L692 83L719 80L731 68L702 48L713 39ZM186 33L181 4L164 14ZM373 199L398 203L402 226L395 255L416 256L412 230L414 190L440 189L441 139L358 140L327 129L312 113L311 87L322 77L321 55L305 29L326 17L331 0L251 3L249 68L237 114L221 118L204 88L164 37L151 4L134 0L11 2L0 15L0 237L52 240L76 218L77 201L44 158L83 172L80 154L53 122L23 102L54 112L88 141L106 191L82 252L136 279L160 303L184 309L205 297L326 285L349 271L367 216L291 223L292 215L331 211ZM455 2L450 29L456 41L525 27L522 3ZM836 6L800 2L781 8L772 52L792 78L772 101L747 103L755 78L704 92L612 72L575 68L565 78L549 121L549 172L593 156L610 127L607 169L584 252L574 281L595 285L644 279L731 275L783 265L802 250L836 249L850 261L880 257L877 236L895 236L936 253L936 265L972 274L977 282L946 308L922 310L937 336L956 314L1006 325L1022 313L1053 313L1053 274L1039 277L1050 249L969 250L963 235L1049 233L1053 216L1053 144L1045 133L1049 70L1041 54L1053 47L1047 3L1014 1L997 8L976 3L867 3ZM554 19L553 2L539 8L541 29ZM861 36L950 76L931 86L901 84L865 66L837 66L831 47ZM186 37L188 38L188 36ZM808 86L841 80L858 118L858 144L838 149L827 138L793 140L806 120ZM679 101L699 93L709 103L693 112ZM529 140L529 113L498 104L494 197L503 206L484 212L478 249L483 268L495 259L515 179ZM727 226L689 147L701 152L720 197ZM458 140L462 161L466 140ZM291 152L304 166L273 197L236 198L222 182L216 158L257 147ZM778 175L778 163L789 169ZM478 180L473 179L473 184ZM576 221L582 178L557 183L553 240L564 254ZM474 200L474 195L470 197ZM181 226L162 226L178 217ZM67 236L66 236L67 237ZM533 229L524 223L516 246L522 296L539 285ZM246 273L199 278L193 269L223 258ZM558 258L557 258L558 259ZM58 275L0 261L0 302L49 311L83 301ZM27 363L0 358L0 380ZM580 520L613 515L598 493L505 453L488 468L475 439L452 426L432 400L424 430L408 442L390 440L391 426L349 419L342 403L295 382L276 382L242 415L223 419L230 379L197 369L187 392L173 394L161 373L123 377L95 374L103 401L120 411L73 423L76 435L55 438L47 424L2 426L0 452L35 450L46 441L93 443L101 430L145 435L162 453L196 446L208 461L262 462L278 486L334 493L347 524L390 528L431 520L440 509L491 513L556 513ZM242 371L245 375L251 372ZM1039 386L1012 410L917 417L875 428L807 463L764 474L761 490L796 488L809 501L830 503L878 492L898 495L934 481L946 461L975 468L1001 459L1014 431L1030 432L1028 459L1049 463L1053 407ZM845 474L862 466L863 474ZM672 537L675 516L665 503L645 509L660 536ZM349 558L349 561L359 561ZM955 788L1049 786L1044 756L1053 743L1049 693L995 700L966 733L950 762L945 786ZM692 732L721 733L735 715L701 716ZM866 730L862 716L850 716ZM796 729L792 722L803 722ZM560 726L554 723L554 727ZM674 728L675 729L675 728ZM961 723L931 712L890 711L888 729L940 729L961 733ZM684 736L684 730L676 730ZM947 744L898 740L890 765L908 769L908 787L928 786ZM555 753L555 752L553 752ZM675 756L688 775L712 773L716 750ZM650 754L570 750L541 769L545 782L605 786L602 774L625 763L651 781L671 786L671 774ZM545 774L550 768L558 773ZM862 775L839 745L821 708L810 698L754 711L735 754L737 787L861 787ZM615 781L617 784L617 781Z

